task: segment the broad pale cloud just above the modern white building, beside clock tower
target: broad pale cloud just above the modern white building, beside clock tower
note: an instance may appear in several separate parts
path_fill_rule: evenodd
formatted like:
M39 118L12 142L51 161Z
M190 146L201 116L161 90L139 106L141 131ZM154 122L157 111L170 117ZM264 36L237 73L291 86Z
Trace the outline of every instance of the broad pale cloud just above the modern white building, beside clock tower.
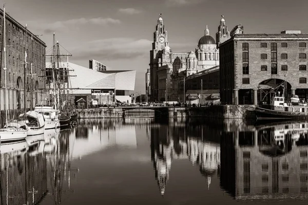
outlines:
M148 56L151 41L127 37L107 38L86 42L84 45L72 48L72 53L78 59L132 59Z

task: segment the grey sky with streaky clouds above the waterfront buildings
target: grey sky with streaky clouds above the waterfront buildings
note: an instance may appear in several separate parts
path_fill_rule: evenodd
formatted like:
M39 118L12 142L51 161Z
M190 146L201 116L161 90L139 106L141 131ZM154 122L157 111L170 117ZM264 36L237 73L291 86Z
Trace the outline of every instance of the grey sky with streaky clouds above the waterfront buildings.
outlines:
M110 70L136 70L135 91L145 93L145 72L159 14L174 53L197 48L206 25L215 38L221 15L228 30L244 33L308 32L306 0L1 0L6 11L52 46L52 35L88 67L89 59ZM66 52L66 51L65 51Z

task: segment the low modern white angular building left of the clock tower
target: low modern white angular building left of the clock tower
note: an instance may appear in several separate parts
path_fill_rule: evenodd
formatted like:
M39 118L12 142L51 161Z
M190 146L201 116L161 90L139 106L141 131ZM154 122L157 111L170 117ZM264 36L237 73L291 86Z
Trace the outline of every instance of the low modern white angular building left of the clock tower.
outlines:
M134 90L136 71L95 71L83 66L69 63L70 100L75 103L84 98L86 108L90 107L92 100L98 104L112 105L117 102L131 103L129 93Z

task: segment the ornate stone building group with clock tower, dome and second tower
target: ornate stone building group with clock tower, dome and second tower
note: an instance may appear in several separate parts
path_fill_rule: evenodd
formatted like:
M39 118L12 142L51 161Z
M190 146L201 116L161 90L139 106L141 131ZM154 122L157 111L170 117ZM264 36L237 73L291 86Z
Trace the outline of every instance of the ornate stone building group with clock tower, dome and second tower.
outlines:
M179 84L184 77L219 65L219 49L216 43L229 38L224 18L220 21L218 42L210 36L206 26L204 36L199 39L198 48L187 53L173 53L169 47L168 32L160 16L153 33L150 51L150 100L178 100Z

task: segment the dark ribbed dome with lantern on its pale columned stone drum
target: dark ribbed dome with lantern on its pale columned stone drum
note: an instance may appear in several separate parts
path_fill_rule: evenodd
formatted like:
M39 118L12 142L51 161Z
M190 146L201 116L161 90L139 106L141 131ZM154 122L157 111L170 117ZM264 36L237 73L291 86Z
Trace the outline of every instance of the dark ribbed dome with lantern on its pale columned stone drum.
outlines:
M199 40L196 52L199 69L204 70L219 65L219 50L217 49L215 39L209 35L207 26L204 36Z

